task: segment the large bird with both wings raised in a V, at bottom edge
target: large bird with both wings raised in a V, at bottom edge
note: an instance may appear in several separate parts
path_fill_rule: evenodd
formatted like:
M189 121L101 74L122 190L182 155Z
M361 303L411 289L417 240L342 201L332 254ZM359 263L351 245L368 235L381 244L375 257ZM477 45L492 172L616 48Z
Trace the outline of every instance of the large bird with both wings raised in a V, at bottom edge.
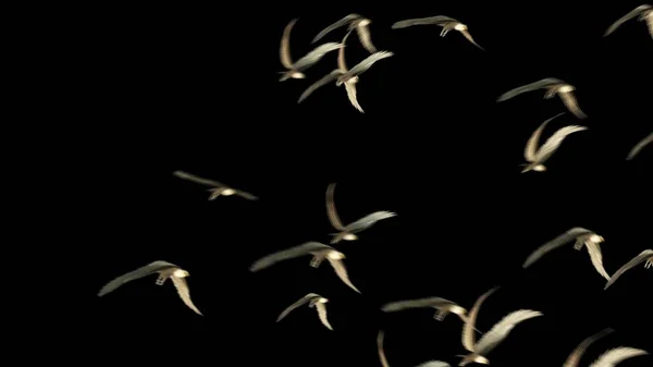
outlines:
M482 294L469 311L467 322L465 322L465 326L463 327L463 346L469 352L469 354L457 355L458 357L463 357L458 364L460 367L470 363L489 365L490 360L486 357L488 353L501 344L501 342L508 337L517 323L534 317L543 316L542 313L532 309L519 309L513 311L494 325L490 331L483 334L483 337L476 342L476 334L473 330L481 304L497 289L498 288L495 286Z

